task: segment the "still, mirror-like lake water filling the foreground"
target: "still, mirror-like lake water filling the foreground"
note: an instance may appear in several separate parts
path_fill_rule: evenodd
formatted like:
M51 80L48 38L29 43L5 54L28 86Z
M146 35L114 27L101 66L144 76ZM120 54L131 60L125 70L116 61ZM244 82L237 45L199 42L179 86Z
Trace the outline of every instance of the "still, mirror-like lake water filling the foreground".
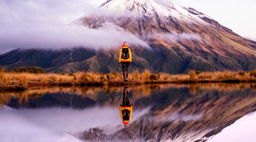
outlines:
M253 142L255 111L248 83L36 87L0 93L0 142Z

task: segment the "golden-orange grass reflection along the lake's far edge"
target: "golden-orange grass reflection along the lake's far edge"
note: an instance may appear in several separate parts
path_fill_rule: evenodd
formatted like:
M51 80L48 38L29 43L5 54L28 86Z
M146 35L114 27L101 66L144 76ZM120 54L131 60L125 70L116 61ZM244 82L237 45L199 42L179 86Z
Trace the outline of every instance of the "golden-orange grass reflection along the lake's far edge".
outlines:
M244 90L248 88L252 88L252 90L256 90L256 83L254 84L248 84L248 83L240 83L240 84L227 84L227 83L206 83L206 84L189 84L189 85L177 85L177 84L161 84L161 85L139 85L139 86L132 86L128 87L130 95L134 95L136 99L139 98L149 98L152 94L152 91L162 92L163 90L175 88L175 89L183 89L188 88L189 94L192 94L193 96L196 94L196 96L200 96L200 94L203 94L204 92L207 92L208 90L216 90L219 92L222 92L220 95L224 95L228 92L234 91L234 90ZM28 102L28 99L32 98L40 98L45 93L71 93L76 95L81 95L83 98L89 97L93 100L97 100L97 95L99 92L106 92L106 95L111 94L111 92L116 92L119 94L123 93L123 87L108 87L108 86L102 86L102 87L31 87L28 88L28 90L24 92L13 92L13 93L0 93L0 104L3 107L4 104L8 104L10 102L11 97L18 98L19 104L26 104ZM198 92L197 92L198 91ZM104 94L104 93L103 93ZM171 93L172 94L172 93ZM235 93L237 94L237 93ZM236 96L235 94L232 94L232 96ZM175 98L175 94L173 94ZM179 94L176 94L179 96ZM238 94L241 95L241 94ZM195 96L195 97L196 97ZM210 96L209 97L214 97ZM184 100L180 100L176 103L176 105L181 106Z

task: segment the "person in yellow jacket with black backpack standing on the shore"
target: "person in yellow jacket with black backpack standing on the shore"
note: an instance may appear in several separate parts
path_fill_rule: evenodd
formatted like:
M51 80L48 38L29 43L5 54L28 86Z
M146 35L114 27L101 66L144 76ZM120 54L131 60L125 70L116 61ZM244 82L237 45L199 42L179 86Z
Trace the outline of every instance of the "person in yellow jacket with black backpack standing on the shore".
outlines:
M128 48L127 42L124 41L124 45L119 53L119 64L122 64L124 81L128 81L129 65L132 63L131 49Z

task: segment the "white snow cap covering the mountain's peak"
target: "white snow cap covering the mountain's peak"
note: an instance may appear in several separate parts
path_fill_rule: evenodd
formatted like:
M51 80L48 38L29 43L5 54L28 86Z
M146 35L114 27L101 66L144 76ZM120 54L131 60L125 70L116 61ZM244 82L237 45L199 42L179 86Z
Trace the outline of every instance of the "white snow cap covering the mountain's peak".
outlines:
M148 17L153 18L157 16L164 22L168 22L168 19L173 19L181 23L186 24L203 24L211 25L202 18L212 20L209 16L204 15L192 8L181 7L174 5L170 0L108 0L100 5L99 9L93 11L95 15L101 16L101 19L108 17L133 17L141 18ZM91 16L89 13L81 19ZM104 16L104 17L102 17ZM99 21L95 21L97 23ZM211 25L214 26L214 25Z

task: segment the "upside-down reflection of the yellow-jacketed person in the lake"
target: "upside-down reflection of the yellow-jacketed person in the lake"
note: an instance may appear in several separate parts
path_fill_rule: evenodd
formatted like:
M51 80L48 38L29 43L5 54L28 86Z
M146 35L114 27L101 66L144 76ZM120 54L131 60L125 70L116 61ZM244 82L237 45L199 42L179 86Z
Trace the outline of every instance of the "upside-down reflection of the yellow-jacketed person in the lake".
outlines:
M123 93L123 102L119 106L120 116L124 123L124 126L127 127L128 122L132 119L132 105L129 102L129 93L127 87L124 87Z

